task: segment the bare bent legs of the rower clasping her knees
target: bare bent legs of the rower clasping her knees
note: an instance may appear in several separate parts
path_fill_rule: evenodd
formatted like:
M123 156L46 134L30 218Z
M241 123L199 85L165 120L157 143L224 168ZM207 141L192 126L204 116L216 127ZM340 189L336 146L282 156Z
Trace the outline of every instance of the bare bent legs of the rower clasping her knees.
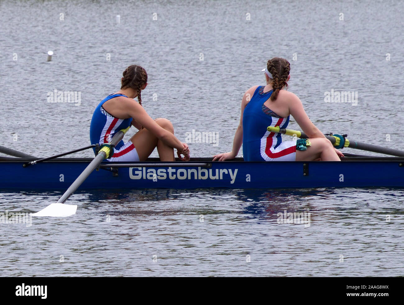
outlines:
M155 119L156 123L174 134L173 124L168 119ZM174 161L174 148L167 146L146 128L139 130L130 141L135 145L140 161L145 161L157 147L160 161Z

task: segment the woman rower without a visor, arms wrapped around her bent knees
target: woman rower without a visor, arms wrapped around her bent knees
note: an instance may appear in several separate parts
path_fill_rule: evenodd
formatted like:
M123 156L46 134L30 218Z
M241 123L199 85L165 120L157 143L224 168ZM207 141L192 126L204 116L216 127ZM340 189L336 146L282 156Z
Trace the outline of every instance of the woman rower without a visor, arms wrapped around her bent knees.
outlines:
M189 161L188 145L174 136L173 124L168 119L152 119L143 109L141 92L146 86L145 69L138 65L126 68L120 90L102 100L94 111L91 144L108 143L116 132L133 125L139 131L128 142L121 140L107 161L145 161L156 147L160 161L174 161L174 148L181 160ZM136 97L138 102L133 100Z

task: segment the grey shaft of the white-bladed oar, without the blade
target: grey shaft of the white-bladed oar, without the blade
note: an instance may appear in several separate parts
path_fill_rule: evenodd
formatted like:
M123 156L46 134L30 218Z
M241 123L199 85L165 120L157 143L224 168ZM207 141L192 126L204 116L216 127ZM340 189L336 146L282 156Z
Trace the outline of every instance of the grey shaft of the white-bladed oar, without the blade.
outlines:
M128 130L128 129L129 128L127 128L126 130ZM114 134L114 136L112 137L111 142L109 142L109 145L114 147L116 144L118 144L119 141L122 140L122 138L124 137L126 130L124 132L119 131L116 134ZM105 158L107 158L107 156L109 156L109 155L110 155L110 148L107 148L107 147L101 148L100 151L98 152L98 155L95 156L95 158L93 159L93 161L90 162L90 164L87 165L86 169L84 169L84 171L80 174L80 176L78 176L77 179L74 180L72 185L60 197L60 199L57 201L57 203L65 203L65 201L70 196L72 196L72 194L74 192L76 192L78 187L84 182L84 180L87 179L87 177L94 171L94 169L96 169L98 167L98 165L100 165L100 163Z

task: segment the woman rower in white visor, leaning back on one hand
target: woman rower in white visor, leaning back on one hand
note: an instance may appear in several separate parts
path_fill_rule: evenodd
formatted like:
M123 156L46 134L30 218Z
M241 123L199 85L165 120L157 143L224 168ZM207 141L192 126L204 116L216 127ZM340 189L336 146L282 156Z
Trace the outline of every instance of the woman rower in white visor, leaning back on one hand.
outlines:
M234 159L241 145L245 161L340 161L343 154L310 121L301 100L292 92L282 90L288 88L290 63L274 57L262 71L265 71L266 86L251 87L242 99L233 150L213 156L213 161ZM268 126L286 128L290 115L309 139L282 141L281 134L267 131Z

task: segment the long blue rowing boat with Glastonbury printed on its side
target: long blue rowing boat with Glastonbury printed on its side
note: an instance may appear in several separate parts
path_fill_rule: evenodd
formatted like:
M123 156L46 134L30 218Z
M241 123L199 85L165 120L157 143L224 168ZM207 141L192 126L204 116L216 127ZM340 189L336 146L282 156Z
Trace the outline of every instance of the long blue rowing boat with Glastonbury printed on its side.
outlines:
M1 190L65 190L92 158L0 158ZM341 162L102 162L80 189L404 187L403 157L344 157Z

